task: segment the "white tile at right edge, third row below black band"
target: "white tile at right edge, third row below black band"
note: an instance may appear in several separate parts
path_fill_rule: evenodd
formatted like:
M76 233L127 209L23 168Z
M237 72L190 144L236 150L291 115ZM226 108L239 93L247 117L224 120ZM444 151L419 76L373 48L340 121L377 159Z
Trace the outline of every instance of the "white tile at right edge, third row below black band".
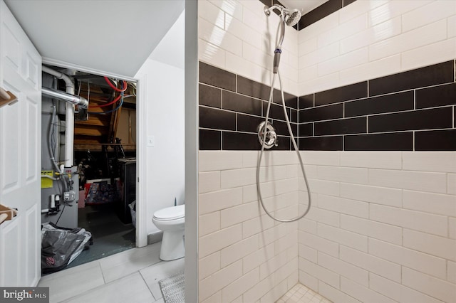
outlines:
M403 191L403 208L456 217L456 196L423 191Z

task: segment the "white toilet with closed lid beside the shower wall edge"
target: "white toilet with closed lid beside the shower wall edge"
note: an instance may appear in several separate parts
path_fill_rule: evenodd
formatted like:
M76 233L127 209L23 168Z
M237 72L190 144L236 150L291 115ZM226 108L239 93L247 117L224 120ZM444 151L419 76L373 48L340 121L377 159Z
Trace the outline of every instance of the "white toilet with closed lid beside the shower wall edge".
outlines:
M167 207L156 211L152 222L163 231L160 260L170 261L184 257L185 205Z

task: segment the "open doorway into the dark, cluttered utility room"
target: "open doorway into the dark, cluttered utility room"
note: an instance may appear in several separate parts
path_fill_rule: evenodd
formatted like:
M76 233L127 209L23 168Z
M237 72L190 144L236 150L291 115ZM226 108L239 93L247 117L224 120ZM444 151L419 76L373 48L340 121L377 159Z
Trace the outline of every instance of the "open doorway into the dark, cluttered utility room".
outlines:
M75 85L74 95L89 103L88 109L76 106L75 110L74 160L68 178L74 203L59 198L60 207L56 208L56 196L66 194L58 181L42 188L42 223L85 228L92 234L93 245L86 245L88 249L68 265L74 267L136 246L137 81L47 67L68 75ZM65 91L65 85L43 73L43 87ZM43 95L43 171L48 169L50 158L60 162L66 157L63 103ZM49 205L51 200L53 208Z

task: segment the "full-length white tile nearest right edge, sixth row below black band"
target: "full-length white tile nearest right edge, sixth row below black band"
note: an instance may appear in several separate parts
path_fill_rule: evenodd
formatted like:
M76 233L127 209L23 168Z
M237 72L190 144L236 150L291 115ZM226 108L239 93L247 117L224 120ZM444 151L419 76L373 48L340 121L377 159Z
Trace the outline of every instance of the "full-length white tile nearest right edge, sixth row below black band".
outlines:
M446 279L447 263L445 259L440 257L434 257L372 238L369 238L369 253L405 267L414 268L428 275Z

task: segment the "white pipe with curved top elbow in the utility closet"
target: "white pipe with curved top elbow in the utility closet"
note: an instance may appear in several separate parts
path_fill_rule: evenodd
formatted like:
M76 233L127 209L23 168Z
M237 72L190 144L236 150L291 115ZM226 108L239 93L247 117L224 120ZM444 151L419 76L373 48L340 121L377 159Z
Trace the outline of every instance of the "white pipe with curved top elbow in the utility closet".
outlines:
M43 65L43 72L55 76L58 79L62 79L66 84L66 92L70 95L74 95L74 84L71 78L64 73L60 73L57 70L53 70ZM74 105L67 103L65 105L65 167L73 166L73 142L74 142Z

